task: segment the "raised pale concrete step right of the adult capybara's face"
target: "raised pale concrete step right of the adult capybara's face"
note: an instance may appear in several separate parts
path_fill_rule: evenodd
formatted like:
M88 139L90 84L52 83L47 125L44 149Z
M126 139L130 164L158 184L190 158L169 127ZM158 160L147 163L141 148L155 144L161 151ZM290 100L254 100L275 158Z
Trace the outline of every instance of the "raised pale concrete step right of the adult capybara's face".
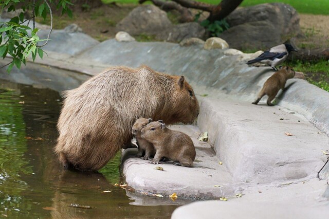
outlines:
M328 149L329 138L295 112L211 98L204 98L200 109L200 130L208 131L234 181L310 179L326 161L321 150Z

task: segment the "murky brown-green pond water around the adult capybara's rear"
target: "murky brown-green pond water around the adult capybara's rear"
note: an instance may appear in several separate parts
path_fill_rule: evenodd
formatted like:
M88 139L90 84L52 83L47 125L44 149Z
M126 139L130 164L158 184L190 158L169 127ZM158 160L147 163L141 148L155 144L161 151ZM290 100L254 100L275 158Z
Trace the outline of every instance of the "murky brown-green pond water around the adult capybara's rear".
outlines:
M114 186L120 154L99 173L63 170L52 151L60 108L53 90L0 80L0 218L170 218L177 205L132 205Z

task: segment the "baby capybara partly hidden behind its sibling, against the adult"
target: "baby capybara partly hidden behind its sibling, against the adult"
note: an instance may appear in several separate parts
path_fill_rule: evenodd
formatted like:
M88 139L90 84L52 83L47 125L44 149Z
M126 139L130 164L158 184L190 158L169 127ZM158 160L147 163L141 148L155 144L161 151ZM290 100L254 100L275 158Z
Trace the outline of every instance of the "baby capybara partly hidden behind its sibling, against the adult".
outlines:
M136 138L136 143L138 145L138 154L137 157L142 157L143 153L145 155L142 157L144 160L148 160L150 157L154 157L155 155L155 149L151 142L143 139L140 137L140 131L143 127L145 127L150 122L153 122L152 118L139 118L136 120L136 122L133 125L132 133Z

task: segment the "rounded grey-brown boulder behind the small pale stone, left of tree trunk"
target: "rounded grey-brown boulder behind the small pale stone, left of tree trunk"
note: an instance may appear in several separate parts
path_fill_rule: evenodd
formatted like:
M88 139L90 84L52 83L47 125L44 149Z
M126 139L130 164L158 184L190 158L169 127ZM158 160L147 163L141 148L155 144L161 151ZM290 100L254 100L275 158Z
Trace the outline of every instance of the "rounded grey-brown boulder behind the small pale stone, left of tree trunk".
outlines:
M131 35L138 34L158 34L172 26L165 11L160 10L154 5L140 6L132 10L116 29L125 31Z

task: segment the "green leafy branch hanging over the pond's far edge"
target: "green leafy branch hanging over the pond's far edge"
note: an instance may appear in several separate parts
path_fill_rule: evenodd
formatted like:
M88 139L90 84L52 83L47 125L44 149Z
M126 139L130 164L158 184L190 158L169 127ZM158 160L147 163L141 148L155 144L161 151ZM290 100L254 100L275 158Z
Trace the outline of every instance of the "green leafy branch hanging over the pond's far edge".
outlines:
M21 67L21 64L26 64L26 60L31 55L34 61L36 56L43 58L44 51L41 47L47 45L50 34L52 31L52 10L50 4L55 4L57 10L61 10L62 14L67 13L72 16L72 11L68 8L69 5L73 5L68 0L60 0L54 3L54 0L33 0L21 1L21 0L5 0L0 4L0 9L7 10L7 12L16 11L16 6L19 3L24 3L22 6L22 12L18 16L14 16L9 22L0 22L0 57L5 59L9 54L12 57L12 61L0 68L6 67L10 72L15 65L17 68ZM31 19L33 19L33 29L29 27L30 19L26 24L25 13L27 11L32 12ZM43 17L46 19L50 16L50 30L47 39L40 39L38 32L40 29L34 28L35 17ZM25 25L26 24L26 25ZM39 45L40 42L45 41L44 44Z

